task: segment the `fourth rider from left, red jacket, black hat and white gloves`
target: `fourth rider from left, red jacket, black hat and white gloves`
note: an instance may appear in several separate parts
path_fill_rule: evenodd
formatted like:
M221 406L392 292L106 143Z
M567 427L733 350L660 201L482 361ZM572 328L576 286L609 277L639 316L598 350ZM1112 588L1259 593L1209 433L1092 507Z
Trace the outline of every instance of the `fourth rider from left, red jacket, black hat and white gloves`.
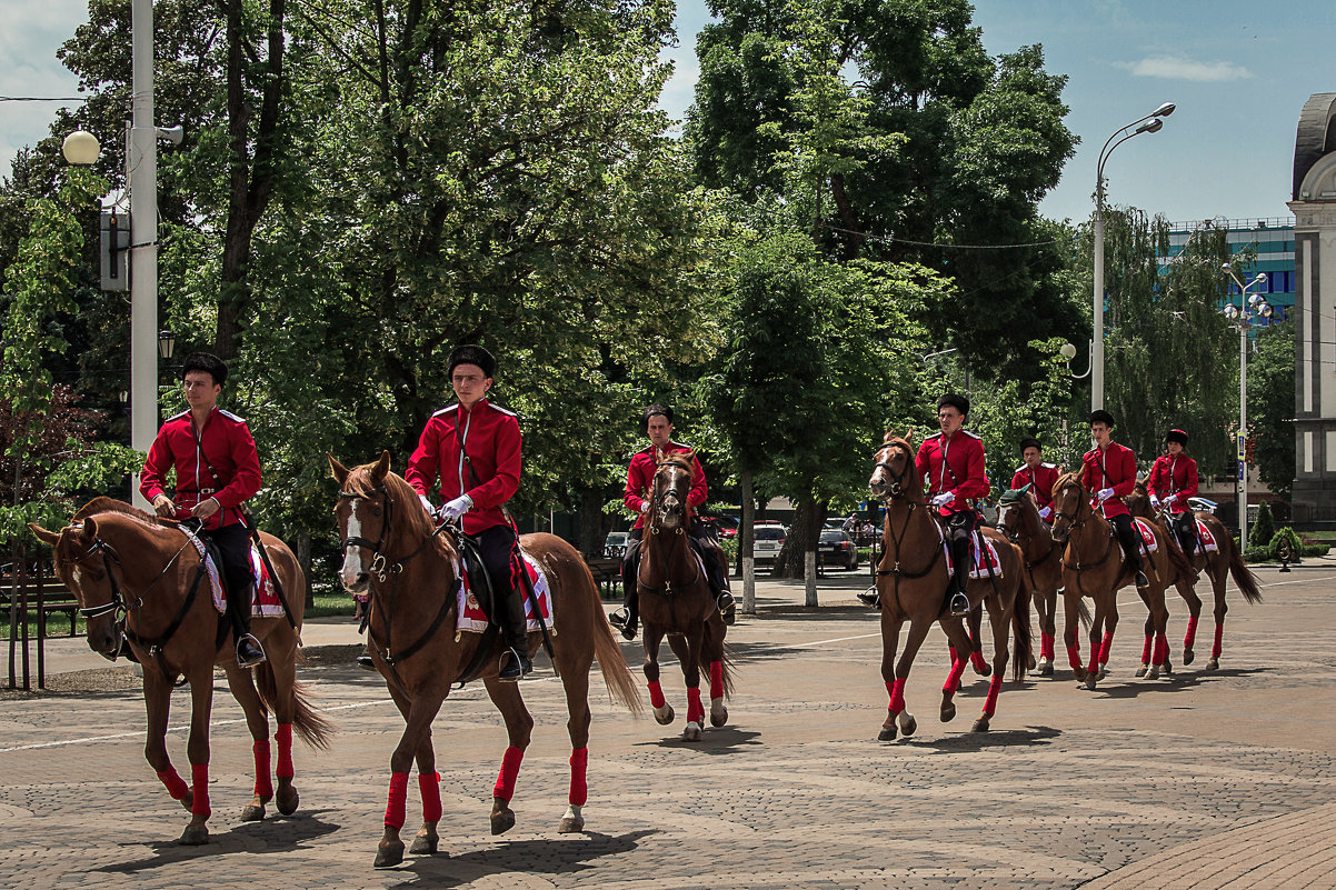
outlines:
M937 400L937 422L942 432L925 438L914 457L927 480L929 504L946 523L946 540L955 564L951 615L970 611L970 597L965 592L970 583L970 536L981 518L974 498L989 493L983 440L963 429L969 413L970 400L965 396L947 393Z

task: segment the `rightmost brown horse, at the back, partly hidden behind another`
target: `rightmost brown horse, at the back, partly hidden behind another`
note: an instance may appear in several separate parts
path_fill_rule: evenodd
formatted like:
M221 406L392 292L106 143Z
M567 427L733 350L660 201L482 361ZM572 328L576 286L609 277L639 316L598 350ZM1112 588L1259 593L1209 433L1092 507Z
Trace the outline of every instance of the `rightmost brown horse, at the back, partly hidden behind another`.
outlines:
M1148 520L1158 520L1160 527L1165 531L1165 536L1173 541L1174 547L1178 547L1177 537L1172 533L1168 513L1161 513L1158 517L1150 506L1150 496L1146 493L1146 480L1137 480L1137 488L1132 494L1126 497L1128 509L1132 510L1133 516L1141 516ZM1201 615L1201 599L1197 596L1196 591L1196 575L1197 571L1204 571L1206 577L1210 579L1210 589L1216 597L1216 640L1210 647L1210 660L1206 661L1206 670L1214 671L1220 667L1220 653L1224 648L1225 636L1225 613L1229 611L1229 605L1225 603L1225 576L1233 576L1234 584L1242 592L1244 599L1249 605L1261 603L1261 588L1257 585L1257 576L1253 575L1248 565L1244 563L1242 552L1238 545L1234 544L1233 535L1225 528L1213 513L1193 513L1196 520L1206 527L1210 536L1216 539L1216 547L1218 549L1213 552L1206 552L1205 548L1198 547L1192 555L1192 568L1193 572L1181 572L1178 575L1176 587L1178 588L1178 596L1188 603L1188 631L1182 639L1182 663L1192 664L1196 659L1193 652L1193 643L1197 637L1197 617ZM1146 645L1149 645L1150 631L1146 631ZM1142 663L1146 660L1141 659Z

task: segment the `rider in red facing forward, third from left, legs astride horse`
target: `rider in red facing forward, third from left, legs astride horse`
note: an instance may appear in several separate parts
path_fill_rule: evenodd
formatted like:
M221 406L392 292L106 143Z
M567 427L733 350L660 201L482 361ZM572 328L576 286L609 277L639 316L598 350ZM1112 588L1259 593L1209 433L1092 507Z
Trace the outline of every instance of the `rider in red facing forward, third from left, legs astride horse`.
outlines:
M709 529L696 516L696 510L705 502L708 493L705 470L700 468L700 461L696 460L696 453L689 446L672 441L671 408L655 404L644 410L643 417L645 433L649 436L649 446L636 452L635 457L631 458L631 466L627 468L627 492L623 496L627 509L637 514L636 524L632 527L631 535L627 536L627 552L621 557L621 588L625 592L625 603L608 616L608 621L619 628L628 640L636 639L639 624L636 575L640 568L640 540L644 536L645 513L649 510L649 500L645 494L653 486L659 461L668 454L684 453L691 454L692 478L695 480L687 494L687 540L691 549L700 556L705 565L705 575L709 579L719 611L724 616L724 624L732 624L735 617L733 595L728 589L728 576L717 556L719 545L711 540Z

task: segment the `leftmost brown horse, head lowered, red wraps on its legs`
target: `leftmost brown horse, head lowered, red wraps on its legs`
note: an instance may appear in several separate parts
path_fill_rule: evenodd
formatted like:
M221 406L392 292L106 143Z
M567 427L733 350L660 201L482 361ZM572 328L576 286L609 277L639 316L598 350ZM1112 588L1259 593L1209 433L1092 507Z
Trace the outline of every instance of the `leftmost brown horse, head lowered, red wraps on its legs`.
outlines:
M265 818L275 796L270 779L269 711L278 719L279 812L297 810L293 787L293 730L311 747L329 747L331 727L306 700L297 682L306 577L287 547L261 535L278 572L295 628L283 616L255 616L254 635L269 659L251 672L236 667L231 621L210 601L207 573L191 539L174 520L158 518L122 501L99 497L75 513L60 532L29 525L55 549L56 575L79 600L88 621L88 647L115 660L122 640L144 670L148 742L144 759L176 800L190 810L182 843L208 842L208 716L214 700L214 665L246 712L254 739L255 790L242 819ZM186 754L194 788L167 756L167 711L178 676L190 683L190 742ZM257 688L258 687L258 688Z

